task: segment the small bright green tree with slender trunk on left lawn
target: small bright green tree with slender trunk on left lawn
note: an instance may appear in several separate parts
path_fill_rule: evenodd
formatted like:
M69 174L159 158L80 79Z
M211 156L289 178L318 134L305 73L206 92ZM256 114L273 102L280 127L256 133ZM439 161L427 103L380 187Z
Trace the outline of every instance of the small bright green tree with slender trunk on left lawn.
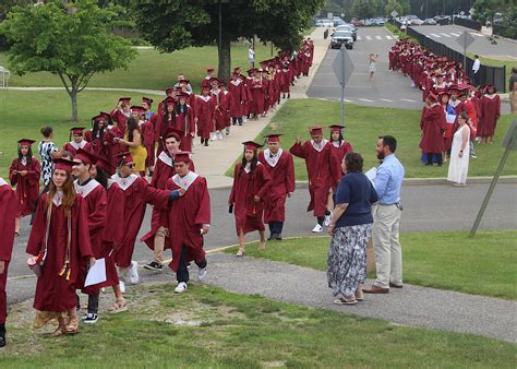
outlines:
M116 16L93 0L15 7L0 27L11 45L11 69L19 75L40 71L57 74L70 95L72 120L76 121L77 93L89 79L127 69L136 55L127 40L109 33Z

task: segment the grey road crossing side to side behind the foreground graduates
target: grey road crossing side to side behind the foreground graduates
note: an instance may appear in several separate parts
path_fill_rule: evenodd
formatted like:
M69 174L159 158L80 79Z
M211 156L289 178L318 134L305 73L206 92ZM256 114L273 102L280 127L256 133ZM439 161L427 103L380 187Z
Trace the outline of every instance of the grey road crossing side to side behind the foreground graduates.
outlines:
M300 184L292 199L288 201L285 237L312 235L314 218L305 212L308 190L303 187ZM486 189L488 184L471 184L465 189L449 186L404 186L401 229L402 231L469 229ZM228 214L228 189L211 191L213 224L211 233L206 237L207 249L237 242L235 221L232 215ZM149 222L151 209L147 209L140 235L149 229ZM24 276L31 276L25 264L25 247L28 236L26 223L27 218L24 218L23 231L15 239L13 261L9 267L8 296L10 302L29 298L34 294L35 279L33 277L24 278ZM496 187L481 229L517 229L517 184L501 183ZM256 234L247 237L248 240L256 238ZM151 250L142 242L137 242L134 260L142 264L151 261ZM152 278L152 273L144 272L144 274L145 281ZM168 273L167 277L172 278L172 275Z

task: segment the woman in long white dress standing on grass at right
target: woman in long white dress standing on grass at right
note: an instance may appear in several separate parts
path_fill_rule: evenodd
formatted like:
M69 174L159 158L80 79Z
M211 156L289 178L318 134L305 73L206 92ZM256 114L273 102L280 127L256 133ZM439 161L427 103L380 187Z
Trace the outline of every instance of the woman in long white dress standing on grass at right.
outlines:
M450 150L450 160L448 164L447 180L453 186L465 186L469 171L469 145L470 128L469 116L464 111L458 117L459 128L453 136L453 147ZM464 154L465 150L467 152Z

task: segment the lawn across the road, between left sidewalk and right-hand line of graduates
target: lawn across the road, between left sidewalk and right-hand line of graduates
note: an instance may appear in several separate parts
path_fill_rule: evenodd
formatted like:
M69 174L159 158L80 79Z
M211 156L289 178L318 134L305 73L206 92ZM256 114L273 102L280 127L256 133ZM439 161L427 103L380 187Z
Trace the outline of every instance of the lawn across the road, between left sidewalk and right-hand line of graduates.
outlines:
M364 158L364 170L378 165L375 154L375 143L380 134L394 135L397 143L397 157L406 168L406 178L446 178L448 165L443 167L425 167L421 162L420 143L420 115L421 110L364 107L349 105L345 107L345 135ZM493 176L504 148L501 142L512 119L512 115L503 116L498 123L494 144L476 145L478 158L470 160L469 177ZM282 105L272 119L272 122L256 138L263 142L263 135L269 132L279 132L284 136L284 148L289 148L296 136L301 135L308 140L311 126L335 124L339 121L339 103L323 102L317 99L292 99ZM328 139L329 130L324 131ZM298 180L306 180L305 164L302 159L294 158L296 176ZM517 175L517 156L510 155L506 162L503 175ZM227 176L233 176L229 168Z

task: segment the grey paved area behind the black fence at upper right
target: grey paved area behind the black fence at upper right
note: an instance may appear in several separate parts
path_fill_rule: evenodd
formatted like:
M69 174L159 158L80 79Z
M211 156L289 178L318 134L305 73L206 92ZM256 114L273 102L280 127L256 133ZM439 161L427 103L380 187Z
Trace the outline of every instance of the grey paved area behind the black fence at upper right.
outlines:
M497 45L492 45L489 40L489 36L457 25L426 25L412 28L459 52L464 52L464 49L458 45L456 38L467 31L474 38L472 45L470 45L467 49L468 52L473 52L485 57L514 60L517 62L517 41L497 38Z

